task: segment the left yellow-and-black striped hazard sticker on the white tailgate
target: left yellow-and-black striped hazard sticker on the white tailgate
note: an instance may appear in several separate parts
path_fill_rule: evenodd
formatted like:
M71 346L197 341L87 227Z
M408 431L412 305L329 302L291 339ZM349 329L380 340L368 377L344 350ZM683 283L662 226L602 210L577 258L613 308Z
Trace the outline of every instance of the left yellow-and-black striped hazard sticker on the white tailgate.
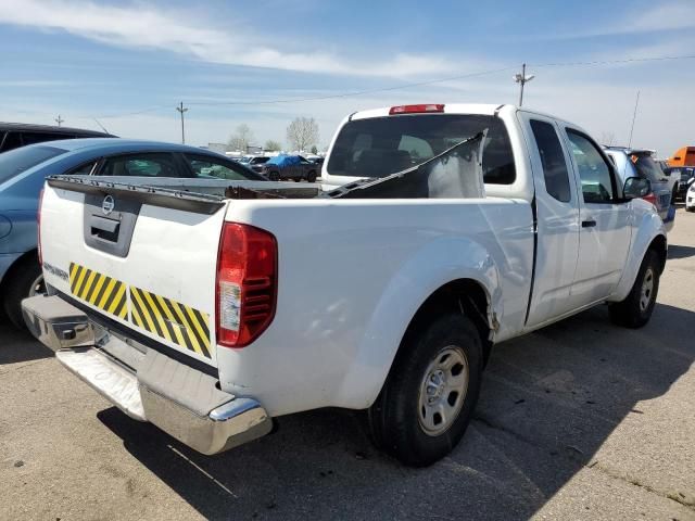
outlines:
M103 274L70 264L70 290L73 295L126 320L128 318L127 287Z

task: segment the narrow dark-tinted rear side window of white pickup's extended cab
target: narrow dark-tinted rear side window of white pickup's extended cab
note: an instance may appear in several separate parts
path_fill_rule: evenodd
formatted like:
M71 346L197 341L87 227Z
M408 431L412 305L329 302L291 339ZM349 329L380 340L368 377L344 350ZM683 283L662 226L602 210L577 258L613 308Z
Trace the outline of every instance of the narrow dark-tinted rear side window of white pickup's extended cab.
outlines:
M555 127L546 122L531 119L531 130L543 165L545 190L558 201L568 203L571 199L569 173Z

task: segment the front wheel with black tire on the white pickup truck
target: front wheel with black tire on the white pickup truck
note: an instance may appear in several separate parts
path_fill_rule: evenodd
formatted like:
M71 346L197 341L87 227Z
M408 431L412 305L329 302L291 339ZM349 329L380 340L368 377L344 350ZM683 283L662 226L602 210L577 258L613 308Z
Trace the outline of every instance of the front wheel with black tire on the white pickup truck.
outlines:
M659 271L660 262L657 253L647 250L628 296L621 302L608 305L610 320L615 325L637 329L649 321L659 292ZM650 289L648 280L652 280Z

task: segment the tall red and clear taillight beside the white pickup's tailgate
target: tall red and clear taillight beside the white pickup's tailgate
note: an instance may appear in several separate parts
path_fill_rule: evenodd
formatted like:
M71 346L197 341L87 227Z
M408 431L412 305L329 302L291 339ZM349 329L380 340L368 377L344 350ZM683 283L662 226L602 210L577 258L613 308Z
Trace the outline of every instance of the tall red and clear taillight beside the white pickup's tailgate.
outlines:
M217 343L249 345L266 330L277 301L278 245L258 228L226 223L216 281Z

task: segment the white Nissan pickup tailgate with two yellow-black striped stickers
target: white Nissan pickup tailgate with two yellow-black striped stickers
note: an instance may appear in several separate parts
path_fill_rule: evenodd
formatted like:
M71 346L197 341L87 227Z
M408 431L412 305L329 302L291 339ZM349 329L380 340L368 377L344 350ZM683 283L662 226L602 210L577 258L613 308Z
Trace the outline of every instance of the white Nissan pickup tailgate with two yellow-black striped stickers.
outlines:
M49 179L40 215L47 283L216 367L215 275L227 203L208 200Z

